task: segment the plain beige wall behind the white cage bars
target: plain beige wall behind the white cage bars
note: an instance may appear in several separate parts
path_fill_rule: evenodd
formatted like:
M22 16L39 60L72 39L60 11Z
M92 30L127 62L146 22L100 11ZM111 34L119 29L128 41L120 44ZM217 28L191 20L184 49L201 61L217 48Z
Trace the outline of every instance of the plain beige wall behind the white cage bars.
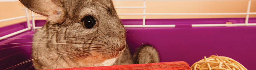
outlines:
M146 1L146 13L245 13L248 1ZM143 6L143 1L114 1L116 7ZM0 19L25 15L19 2L1 2ZM118 13L143 13L142 8L117 9ZM256 12L256 1L252 1L251 11ZM180 18L243 18L246 15L147 15L146 19ZM142 19L142 15L120 15L121 19ZM256 15L250 15L256 17ZM31 18L30 18L31 19ZM46 18L36 18L46 19ZM26 21L26 18L0 22L0 27Z

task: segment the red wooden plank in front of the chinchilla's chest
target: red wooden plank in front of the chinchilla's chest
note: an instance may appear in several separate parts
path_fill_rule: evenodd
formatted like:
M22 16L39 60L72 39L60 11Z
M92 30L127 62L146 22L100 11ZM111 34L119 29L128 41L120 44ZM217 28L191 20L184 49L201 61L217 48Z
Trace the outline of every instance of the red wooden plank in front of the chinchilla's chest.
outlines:
M179 62L159 62L148 64L128 64L101 67L80 67L80 68L62 68L47 70L190 70L188 63Z

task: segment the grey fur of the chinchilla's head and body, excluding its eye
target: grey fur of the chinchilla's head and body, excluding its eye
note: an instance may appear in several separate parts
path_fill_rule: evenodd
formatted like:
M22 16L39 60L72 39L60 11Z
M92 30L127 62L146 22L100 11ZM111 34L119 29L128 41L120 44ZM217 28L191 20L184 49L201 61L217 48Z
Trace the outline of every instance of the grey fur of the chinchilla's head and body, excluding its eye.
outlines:
M34 34L32 57L36 69L134 63L126 45L125 28L111 0L20 1L28 9L48 17ZM81 19L88 15L97 22L92 28L83 27Z

